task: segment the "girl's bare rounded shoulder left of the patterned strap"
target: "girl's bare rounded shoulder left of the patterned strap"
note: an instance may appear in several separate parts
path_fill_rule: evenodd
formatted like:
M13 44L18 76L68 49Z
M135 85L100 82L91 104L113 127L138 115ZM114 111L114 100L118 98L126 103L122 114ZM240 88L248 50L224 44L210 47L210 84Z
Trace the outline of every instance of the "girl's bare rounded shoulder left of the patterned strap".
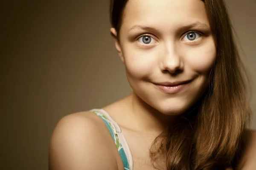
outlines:
M49 147L50 170L118 170L111 135L91 112L67 115L56 125Z

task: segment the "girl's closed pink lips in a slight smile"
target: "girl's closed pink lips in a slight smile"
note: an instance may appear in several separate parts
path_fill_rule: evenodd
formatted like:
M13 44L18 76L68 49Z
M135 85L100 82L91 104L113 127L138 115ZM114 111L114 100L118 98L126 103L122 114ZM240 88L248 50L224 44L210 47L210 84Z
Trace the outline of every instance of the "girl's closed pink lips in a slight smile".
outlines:
M167 94L175 94L184 89L187 84L189 84L192 80L189 81L176 81L176 82L162 82L162 83L154 83L157 89L160 89L162 92Z

